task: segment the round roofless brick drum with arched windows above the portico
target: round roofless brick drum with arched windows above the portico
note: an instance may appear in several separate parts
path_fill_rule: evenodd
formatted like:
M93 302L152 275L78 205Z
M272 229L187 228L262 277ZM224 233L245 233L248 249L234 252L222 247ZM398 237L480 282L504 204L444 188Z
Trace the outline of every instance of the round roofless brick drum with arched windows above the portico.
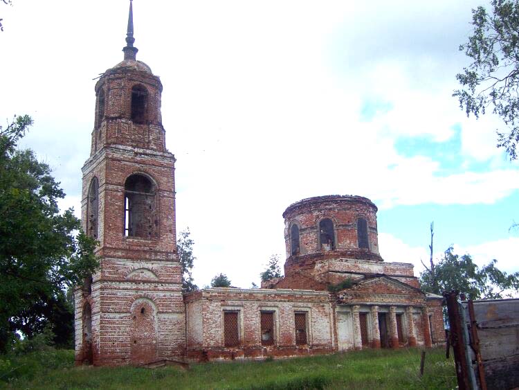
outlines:
M275 287L325 290L345 278L388 272L379 254L376 211L369 199L353 195L311 197L287 207L285 277Z

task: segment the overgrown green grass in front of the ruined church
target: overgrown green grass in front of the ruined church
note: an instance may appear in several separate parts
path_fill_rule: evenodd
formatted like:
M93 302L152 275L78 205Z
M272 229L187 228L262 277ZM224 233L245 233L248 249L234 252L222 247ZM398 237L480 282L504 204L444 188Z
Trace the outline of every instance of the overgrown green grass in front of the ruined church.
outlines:
M452 360L427 350L424 376L415 348L365 350L264 362L192 364L189 371L133 367L74 367L73 351L41 351L10 360L12 389L453 389ZM3 357L0 357L5 362ZM0 375L6 371L0 366ZM3 382L2 382L3 380Z

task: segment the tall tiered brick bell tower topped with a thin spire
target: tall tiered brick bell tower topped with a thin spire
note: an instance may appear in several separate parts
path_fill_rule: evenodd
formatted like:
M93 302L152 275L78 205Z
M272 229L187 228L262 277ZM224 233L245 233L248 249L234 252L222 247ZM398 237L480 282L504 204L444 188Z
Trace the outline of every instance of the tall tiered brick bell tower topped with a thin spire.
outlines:
M82 227L100 268L75 290L77 364L142 364L183 355L174 155L165 148L161 80L136 60L130 0L124 59L95 84Z

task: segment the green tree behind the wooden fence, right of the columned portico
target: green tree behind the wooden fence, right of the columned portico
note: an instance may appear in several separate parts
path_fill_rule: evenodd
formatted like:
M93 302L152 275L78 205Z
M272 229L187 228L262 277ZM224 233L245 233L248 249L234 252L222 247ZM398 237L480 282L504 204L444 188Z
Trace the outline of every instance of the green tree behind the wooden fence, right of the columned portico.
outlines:
M458 256L450 247L435 265L435 275L429 270L420 274L421 287L426 292L442 294L459 290L469 299L500 299L519 292L519 272L507 274L500 271L497 260L478 267L470 255Z

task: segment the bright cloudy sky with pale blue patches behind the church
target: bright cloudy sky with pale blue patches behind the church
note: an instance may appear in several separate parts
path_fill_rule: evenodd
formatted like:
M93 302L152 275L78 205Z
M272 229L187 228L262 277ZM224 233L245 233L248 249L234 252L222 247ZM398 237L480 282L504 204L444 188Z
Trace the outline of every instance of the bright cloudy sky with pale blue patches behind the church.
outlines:
M80 209L94 78L122 60L127 0L0 3L0 120L30 114L23 142ZM177 229L194 277L259 284L284 259L286 206L363 195L379 206L386 261L450 245L519 271L519 163L495 148L498 118L453 98L459 44L481 1L135 0L138 59L161 77L176 156Z

